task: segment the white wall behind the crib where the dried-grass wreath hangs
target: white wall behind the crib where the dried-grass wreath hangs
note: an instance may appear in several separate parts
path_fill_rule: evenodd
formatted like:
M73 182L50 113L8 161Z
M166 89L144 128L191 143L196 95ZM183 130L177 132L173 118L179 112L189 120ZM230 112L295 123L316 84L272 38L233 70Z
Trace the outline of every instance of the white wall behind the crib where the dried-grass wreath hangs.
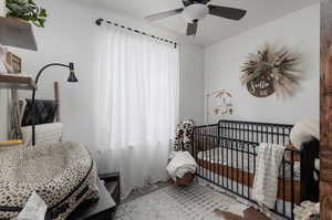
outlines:
M319 3L293 12L284 18L241 33L211 45L205 57L205 92L225 88L232 93L235 114L215 116L210 103L208 123L221 118L273 123L297 123L303 118L319 118L320 71L320 8ZM287 45L301 54L304 81L292 97L282 99L276 95L253 97L239 81L240 66L249 53L257 52L266 42Z

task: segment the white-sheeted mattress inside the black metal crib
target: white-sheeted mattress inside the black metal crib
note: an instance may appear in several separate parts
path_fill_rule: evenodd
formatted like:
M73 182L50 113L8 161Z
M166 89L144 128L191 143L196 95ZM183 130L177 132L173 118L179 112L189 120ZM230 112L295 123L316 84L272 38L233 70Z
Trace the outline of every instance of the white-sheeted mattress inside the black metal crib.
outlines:
M250 151L251 154L248 154ZM237 168L246 172L253 174L256 166L256 156L253 155L255 148L252 146L241 151L239 149L219 147L205 151L199 151L197 159L211 163L215 165L228 166ZM295 161L293 166L293 179L300 179L300 163ZM280 167L279 177L283 177L283 167ZM284 179L291 179L291 166L286 164L284 166Z

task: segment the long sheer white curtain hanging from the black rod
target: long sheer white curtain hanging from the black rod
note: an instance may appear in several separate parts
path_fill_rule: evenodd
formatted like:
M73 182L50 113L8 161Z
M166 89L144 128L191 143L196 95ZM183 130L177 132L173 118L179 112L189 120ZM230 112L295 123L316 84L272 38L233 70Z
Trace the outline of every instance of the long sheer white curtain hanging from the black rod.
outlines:
M111 24L101 27L98 43L97 163L102 172L121 172L126 196L167 179L178 119L178 49Z

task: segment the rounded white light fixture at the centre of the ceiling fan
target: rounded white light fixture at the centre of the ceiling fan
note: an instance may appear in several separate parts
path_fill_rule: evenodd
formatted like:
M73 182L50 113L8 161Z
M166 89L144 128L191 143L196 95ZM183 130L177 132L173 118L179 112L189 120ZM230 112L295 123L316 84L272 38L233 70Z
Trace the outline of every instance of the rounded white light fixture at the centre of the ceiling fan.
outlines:
M201 20L209 14L209 9L206 4L194 3L185 8L183 15L188 23Z

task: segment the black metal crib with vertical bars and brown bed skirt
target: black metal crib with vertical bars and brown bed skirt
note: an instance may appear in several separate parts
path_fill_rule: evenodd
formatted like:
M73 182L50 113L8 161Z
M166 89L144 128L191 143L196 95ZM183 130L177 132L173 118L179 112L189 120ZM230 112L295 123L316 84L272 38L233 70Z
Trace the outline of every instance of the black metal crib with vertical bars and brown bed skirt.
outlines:
M237 121L195 127L190 153L198 164L197 176L255 202L250 189L256 172L257 147L260 143L284 145L278 202L271 211L293 219L294 206L304 200L319 200L319 180L314 178L319 142L311 140L295 149L290 145L291 128L292 125Z

